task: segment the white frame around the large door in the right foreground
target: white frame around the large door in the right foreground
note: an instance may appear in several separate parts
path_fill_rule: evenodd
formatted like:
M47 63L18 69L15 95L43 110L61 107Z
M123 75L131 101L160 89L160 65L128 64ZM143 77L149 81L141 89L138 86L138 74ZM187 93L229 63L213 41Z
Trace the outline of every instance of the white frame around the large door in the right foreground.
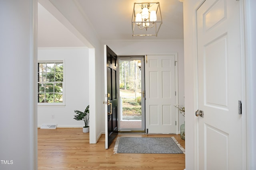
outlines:
M206 0L198 0L193 10L193 43L194 43L194 112L198 108L198 39L197 39L197 10ZM244 26L244 0L240 0L240 22L241 22L241 65L242 65L242 143L243 145L243 169L246 170L247 167L247 140L248 137L246 135L246 62L245 62L245 26ZM194 115L193 112L193 115ZM198 170L199 168L199 145L198 145L198 137L199 137L199 119L195 118L194 115L194 169ZM186 131L186 127L185 127Z

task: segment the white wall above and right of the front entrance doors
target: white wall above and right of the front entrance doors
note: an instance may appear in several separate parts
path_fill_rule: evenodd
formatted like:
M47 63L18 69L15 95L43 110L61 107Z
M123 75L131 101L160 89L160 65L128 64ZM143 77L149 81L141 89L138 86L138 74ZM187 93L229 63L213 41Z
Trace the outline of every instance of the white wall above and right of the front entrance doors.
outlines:
M170 41L104 41L116 55L167 55L178 53L179 104L184 106L184 47L183 40ZM179 124L184 116L179 114ZM179 127L180 128L180 127Z

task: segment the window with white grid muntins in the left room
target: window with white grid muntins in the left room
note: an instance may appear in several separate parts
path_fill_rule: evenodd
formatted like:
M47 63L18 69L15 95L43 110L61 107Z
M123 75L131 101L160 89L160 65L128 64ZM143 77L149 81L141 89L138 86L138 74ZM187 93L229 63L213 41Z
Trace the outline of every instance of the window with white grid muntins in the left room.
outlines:
M38 104L63 104L63 61L38 62Z

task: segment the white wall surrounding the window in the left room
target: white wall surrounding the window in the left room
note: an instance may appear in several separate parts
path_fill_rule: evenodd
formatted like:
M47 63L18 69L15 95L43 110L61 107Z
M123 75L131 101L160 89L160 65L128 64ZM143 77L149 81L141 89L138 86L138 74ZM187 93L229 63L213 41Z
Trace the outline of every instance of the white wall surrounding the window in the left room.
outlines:
M47 123L83 127L83 121L73 118L74 110L84 111L89 104L88 48L39 48L38 61L64 61L65 71L65 105L38 106L38 127Z

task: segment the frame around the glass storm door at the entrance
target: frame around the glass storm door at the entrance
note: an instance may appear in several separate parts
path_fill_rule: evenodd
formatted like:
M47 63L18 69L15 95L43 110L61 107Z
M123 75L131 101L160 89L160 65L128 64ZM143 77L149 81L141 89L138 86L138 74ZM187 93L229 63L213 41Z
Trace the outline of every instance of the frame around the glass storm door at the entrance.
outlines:
M144 61L145 61L145 57L144 55L127 55L127 56L118 56L117 58L117 63L118 63L118 66L117 66L117 97L118 99L120 98L120 74L119 74L119 61L120 60L136 60L136 59L141 59L142 58L142 62L141 62L141 85L143 86L143 89L145 91L145 68L144 68ZM118 106L121 106L121 104L119 103L120 100L118 100ZM118 116L119 118L121 117L121 107L118 107ZM142 100L142 104L141 104L141 111L142 111L142 129L138 129L138 131L145 131L145 127L146 127L146 122L145 122L145 97L144 99ZM128 128L127 128L128 129ZM118 119L118 131L120 131L120 119ZM126 129L123 129L124 131ZM131 131L133 131L133 129L131 129Z

